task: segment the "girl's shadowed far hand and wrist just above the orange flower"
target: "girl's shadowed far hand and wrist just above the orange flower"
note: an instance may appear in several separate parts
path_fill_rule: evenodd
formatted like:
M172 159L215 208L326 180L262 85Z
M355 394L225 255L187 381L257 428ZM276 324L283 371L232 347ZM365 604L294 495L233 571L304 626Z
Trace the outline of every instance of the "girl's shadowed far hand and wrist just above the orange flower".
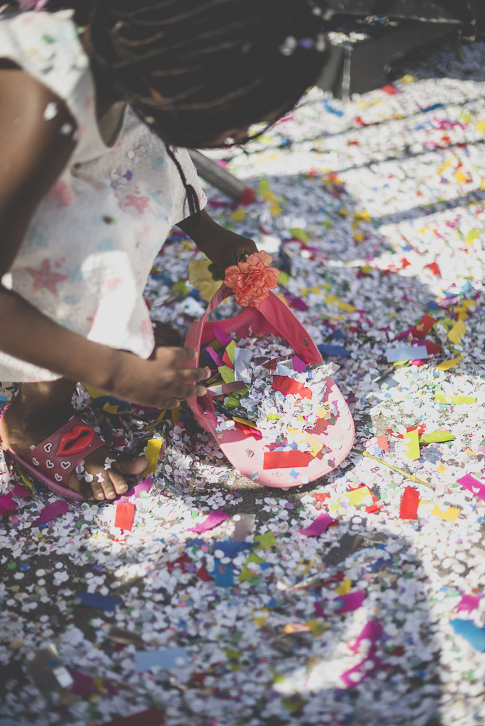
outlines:
M221 227L211 219L205 209L200 212L198 226L195 226L191 217L187 217L179 222L178 227L189 234L200 251L223 270L229 265L237 264L237 260L244 253L250 255L258 251L253 240Z

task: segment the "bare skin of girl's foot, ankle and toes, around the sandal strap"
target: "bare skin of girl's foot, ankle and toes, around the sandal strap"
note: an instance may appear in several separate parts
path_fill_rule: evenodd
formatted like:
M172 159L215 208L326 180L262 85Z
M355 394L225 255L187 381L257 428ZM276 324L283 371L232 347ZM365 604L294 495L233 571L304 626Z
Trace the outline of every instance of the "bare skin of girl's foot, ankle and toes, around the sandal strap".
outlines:
M75 413L70 405L76 383L66 378L43 383L23 383L17 397L0 419L0 439L4 446L26 457L64 425ZM108 461L107 461L108 460ZM114 461L113 461L114 460ZM147 466L145 457L133 459L128 454L102 446L86 457L85 473L92 481L79 481L76 473L69 478L69 488L86 499L114 499L128 486L123 475L140 474ZM89 476L88 476L89 478Z

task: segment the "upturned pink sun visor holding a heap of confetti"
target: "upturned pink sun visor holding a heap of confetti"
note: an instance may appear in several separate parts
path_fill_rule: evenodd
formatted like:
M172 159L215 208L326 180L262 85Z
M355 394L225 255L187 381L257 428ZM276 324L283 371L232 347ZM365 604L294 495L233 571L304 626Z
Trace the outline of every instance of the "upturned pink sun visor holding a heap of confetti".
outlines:
M221 327L226 333L236 333L237 338L249 335L265 335L274 333L286 340L299 358L306 364L322 363L322 356L309 333L285 303L277 295L269 291L269 296L258 308L246 308L240 315L228 320L208 322L208 315L231 295L225 285L219 288L208 304L207 310L199 320L195 321L187 332L184 345L194 348L197 358L187 361L187 367L196 367L200 348L214 339L213 329ZM207 394L201 398L187 399L197 422L209 431L219 444L221 451L232 465L244 476L266 486L300 486L325 476L346 458L354 443L354 421L341 392L330 378L323 397L323 403L332 405L336 414L335 423L319 419L309 433L319 439L326 447L325 455L317 454L306 466L289 468L264 468L264 454L269 452L268 442L261 439L261 434L245 433L240 428L218 433L219 425L212 396ZM257 438L259 436L259 438ZM266 457L266 461L268 457Z

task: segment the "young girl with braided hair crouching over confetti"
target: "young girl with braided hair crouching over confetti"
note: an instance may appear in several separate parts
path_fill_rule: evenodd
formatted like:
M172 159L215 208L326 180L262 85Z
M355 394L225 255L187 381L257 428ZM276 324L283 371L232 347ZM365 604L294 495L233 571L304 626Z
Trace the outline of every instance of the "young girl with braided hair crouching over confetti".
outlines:
M325 37L312 0L79 6L0 16L0 380L22 383L0 436L53 491L110 499L146 460L73 418L76 382L159 408L202 396L193 351L154 349L148 274L174 224L223 268L256 250L203 210L176 147L287 113Z

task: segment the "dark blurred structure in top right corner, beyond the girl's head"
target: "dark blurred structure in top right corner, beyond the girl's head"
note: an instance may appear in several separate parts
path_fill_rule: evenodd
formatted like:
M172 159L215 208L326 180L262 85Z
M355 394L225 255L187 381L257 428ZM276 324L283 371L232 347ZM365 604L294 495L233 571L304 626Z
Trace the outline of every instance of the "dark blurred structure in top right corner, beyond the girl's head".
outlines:
M327 0L330 59L317 85L336 98L384 86L391 65L412 49L457 31L473 41L482 0Z

